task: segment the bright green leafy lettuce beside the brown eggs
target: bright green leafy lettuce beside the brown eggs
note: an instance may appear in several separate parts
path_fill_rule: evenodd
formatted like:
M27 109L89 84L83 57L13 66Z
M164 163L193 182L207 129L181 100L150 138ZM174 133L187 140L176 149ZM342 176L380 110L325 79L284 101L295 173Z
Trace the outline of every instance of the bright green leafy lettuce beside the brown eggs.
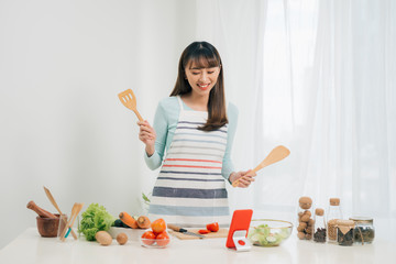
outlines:
M116 218L103 206L91 204L81 215L82 219L78 232L84 233L88 241L95 241L95 234L99 231L108 231Z

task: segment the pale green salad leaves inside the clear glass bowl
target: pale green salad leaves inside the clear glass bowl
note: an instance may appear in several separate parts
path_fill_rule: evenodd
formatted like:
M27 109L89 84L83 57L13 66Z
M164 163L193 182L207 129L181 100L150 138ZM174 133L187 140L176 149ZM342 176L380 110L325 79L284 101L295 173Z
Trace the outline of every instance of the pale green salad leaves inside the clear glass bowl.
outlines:
M284 239L290 235L290 229L277 229L279 232L272 232L268 224L260 224L250 230L248 239L254 245L272 246L278 245Z

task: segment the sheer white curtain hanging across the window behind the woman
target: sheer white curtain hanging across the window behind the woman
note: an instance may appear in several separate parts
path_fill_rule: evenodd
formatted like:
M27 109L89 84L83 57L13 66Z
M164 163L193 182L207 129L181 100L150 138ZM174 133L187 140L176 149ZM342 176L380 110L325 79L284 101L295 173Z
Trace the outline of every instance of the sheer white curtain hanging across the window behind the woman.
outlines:
M197 2L198 36L213 42L228 98L240 109L233 158L254 167L284 144L233 207L290 220L300 196L344 217L396 216L395 2Z

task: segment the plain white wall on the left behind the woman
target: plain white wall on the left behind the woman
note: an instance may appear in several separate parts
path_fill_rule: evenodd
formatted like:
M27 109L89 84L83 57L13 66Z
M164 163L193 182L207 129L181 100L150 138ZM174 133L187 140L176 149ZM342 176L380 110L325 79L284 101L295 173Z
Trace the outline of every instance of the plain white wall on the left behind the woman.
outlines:
M143 118L153 119L195 41L195 4L0 2L0 249L35 227L30 200L55 212L43 186L68 213L77 201L114 216L142 211L156 172L117 94L132 88Z

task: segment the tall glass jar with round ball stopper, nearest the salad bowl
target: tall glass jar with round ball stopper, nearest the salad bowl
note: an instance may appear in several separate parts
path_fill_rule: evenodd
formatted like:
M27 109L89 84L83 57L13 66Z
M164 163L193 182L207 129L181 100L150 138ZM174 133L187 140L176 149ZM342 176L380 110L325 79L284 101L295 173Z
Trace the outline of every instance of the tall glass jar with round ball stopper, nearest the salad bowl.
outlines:
M297 224L297 237L300 240L311 240L314 232L314 219L312 219L312 199L304 196L298 200L298 224Z

